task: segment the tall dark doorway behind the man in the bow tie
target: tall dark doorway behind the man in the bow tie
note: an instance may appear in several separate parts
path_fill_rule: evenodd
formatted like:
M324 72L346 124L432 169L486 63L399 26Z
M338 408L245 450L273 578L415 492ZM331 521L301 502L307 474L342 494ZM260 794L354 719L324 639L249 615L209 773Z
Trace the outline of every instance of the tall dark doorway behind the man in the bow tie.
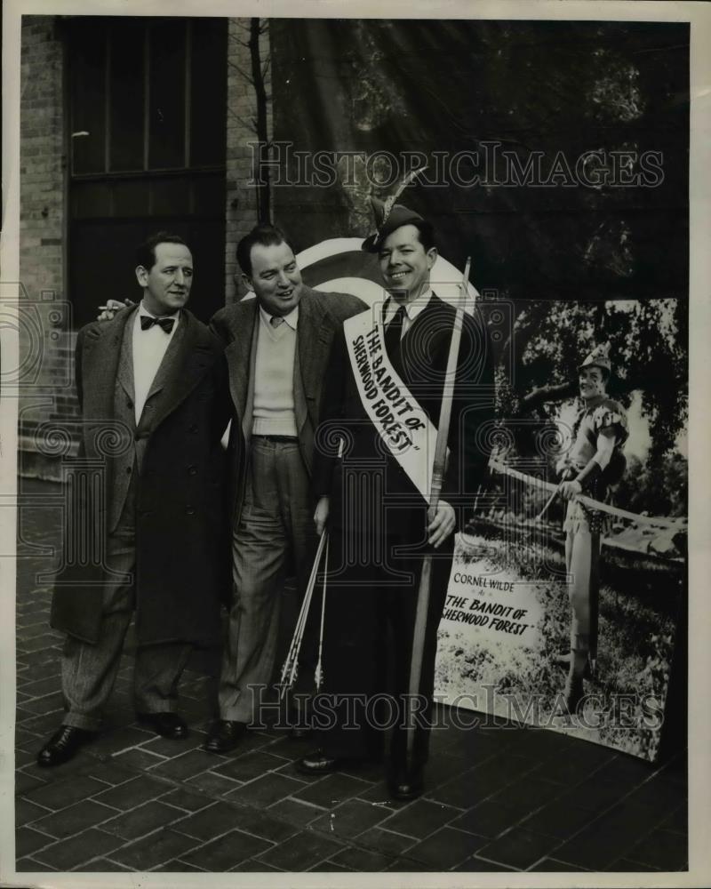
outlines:
M195 261L190 308L224 305L227 20L68 20L69 299L76 326L139 295L134 252L164 229Z

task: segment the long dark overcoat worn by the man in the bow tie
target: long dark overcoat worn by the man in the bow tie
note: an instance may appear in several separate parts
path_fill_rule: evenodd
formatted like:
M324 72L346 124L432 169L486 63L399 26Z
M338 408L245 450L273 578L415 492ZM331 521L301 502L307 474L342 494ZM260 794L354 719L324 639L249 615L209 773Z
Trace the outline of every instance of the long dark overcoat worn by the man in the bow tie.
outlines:
M231 558L226 454L220 445L231 414L223 346L183 310L182 330L174 334L180 332L180 339L166 352L136 426L125 419L132 417L133 392L119 361L136 310L87 324L77 336L82 412L77 471L93 463L102 480L98 487L76 485L86 490L69 501L76 515L67 517L66 527L93 529L90 549L105 553L116 498L125 497L124 473L140 465L134 491L138 640L213 645L220 637L220 599L228 594ZM129 409L122 420L116 417L119 396L126 399L122 409ZM52 597L52 627L96 643L107 580L103 559L96 565L96 559L76 558L71 548L67 556L67 549Z

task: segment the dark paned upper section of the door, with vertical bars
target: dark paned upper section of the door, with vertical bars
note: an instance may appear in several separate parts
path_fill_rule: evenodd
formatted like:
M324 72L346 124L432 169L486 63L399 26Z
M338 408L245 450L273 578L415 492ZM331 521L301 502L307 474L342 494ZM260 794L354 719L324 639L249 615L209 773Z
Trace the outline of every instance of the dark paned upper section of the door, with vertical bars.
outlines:
M72 20L72 177L224 167L226 54L225 20Z

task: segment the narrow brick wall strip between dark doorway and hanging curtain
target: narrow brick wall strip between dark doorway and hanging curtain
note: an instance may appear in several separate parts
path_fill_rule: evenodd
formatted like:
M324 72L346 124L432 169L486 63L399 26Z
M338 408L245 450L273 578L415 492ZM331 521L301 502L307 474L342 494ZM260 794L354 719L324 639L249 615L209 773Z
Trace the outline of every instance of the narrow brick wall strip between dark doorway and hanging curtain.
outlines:
M236 286L235 275L239 267L235 249L239 239L257 222L257 196L252 179L252 148L249 143L257 139L252 128L255 115L254 88L249 77L252 60L245 45L250 36L249 19L230 19L228 27L228 145L227 145L227 224L225 236L225 292L232 302L244 294L244 288ZM270 52L269 32L260 38L260 57L268 59ZM270 69L269 69L270 70ZM271 92L269 70L265 77L267 93ZM272 105L268 102L268 132L272 137Z

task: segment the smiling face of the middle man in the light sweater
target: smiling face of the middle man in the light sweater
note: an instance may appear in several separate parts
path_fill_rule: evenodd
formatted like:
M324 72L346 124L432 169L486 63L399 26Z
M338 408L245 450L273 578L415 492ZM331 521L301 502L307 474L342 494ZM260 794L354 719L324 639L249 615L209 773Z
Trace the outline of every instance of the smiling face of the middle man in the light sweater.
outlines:
M303 284L301 272L289 244L254 244L250 253L252 274L244 284L260 300L269 315L288 315L299 305Z

